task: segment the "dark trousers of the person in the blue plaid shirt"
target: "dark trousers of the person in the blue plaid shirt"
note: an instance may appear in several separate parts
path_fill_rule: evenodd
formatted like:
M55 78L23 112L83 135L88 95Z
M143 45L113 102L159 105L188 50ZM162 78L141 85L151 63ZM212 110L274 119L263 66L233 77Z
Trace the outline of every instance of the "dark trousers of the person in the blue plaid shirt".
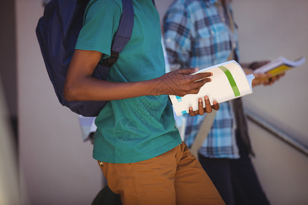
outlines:
M270 204L248 155L212 159L199 154L199 161L227 205Z

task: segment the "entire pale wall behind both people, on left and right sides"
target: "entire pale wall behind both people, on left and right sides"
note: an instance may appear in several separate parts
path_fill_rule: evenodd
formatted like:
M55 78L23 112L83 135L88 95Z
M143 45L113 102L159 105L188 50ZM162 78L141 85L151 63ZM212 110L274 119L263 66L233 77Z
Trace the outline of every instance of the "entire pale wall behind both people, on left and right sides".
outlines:
M163 15L171 0L157 0ZM307 56L307 0L234 0L242 61ZM35 36L40 0L16 0L19 156L23 204L90 204L101 189L92 145L53 92ZM307 64L244 98L245 107L308 144ZM249 124L257 173L272 204L307 204L307 157Z

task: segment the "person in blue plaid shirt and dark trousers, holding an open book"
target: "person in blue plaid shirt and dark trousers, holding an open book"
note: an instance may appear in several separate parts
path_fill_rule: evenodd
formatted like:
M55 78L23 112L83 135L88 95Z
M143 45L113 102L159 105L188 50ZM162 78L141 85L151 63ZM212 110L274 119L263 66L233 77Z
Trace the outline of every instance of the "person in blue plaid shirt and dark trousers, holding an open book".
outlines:
M231 59L239 61L236 27L230 1L174 1L164 18L170 70L206 68ZM251 74L267 62L241 65L246 74ZM280 77L255 74L253 86L270 85ZM185 118L185 143L191 146L205 116ZM220 103L198 159L226 204L269 204L250 155L253 151L241 98Z

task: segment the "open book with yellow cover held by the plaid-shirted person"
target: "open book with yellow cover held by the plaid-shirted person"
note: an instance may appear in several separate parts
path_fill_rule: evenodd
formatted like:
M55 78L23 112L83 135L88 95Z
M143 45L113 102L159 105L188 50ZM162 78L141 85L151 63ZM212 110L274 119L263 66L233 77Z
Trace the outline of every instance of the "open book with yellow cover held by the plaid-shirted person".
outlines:
M261 66L254 70L254 73L271 73L274 75L281 74L290 68L298 67L305 64L305 57L300 57L294 61L286 59L285 57L278 57L273 61L270 61L268 64Z

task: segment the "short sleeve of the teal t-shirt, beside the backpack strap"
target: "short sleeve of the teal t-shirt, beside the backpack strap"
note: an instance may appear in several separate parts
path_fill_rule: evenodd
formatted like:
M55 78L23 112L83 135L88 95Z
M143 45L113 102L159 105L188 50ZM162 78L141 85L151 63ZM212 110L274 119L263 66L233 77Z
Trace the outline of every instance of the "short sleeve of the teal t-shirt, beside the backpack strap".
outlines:
M112 40L120 22L122 4L118 1L92 0L84 14L75 49L99 51L102 57L110 57Z

